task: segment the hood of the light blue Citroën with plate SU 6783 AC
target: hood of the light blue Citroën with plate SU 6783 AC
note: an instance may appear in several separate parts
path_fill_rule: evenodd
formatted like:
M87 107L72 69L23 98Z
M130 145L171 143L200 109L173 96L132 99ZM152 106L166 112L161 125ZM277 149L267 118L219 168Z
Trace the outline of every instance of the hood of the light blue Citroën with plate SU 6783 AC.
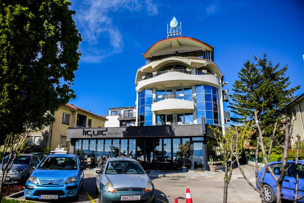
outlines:
M36 169L35 176L37 178L64 178L76 177L77 170L50 170Z

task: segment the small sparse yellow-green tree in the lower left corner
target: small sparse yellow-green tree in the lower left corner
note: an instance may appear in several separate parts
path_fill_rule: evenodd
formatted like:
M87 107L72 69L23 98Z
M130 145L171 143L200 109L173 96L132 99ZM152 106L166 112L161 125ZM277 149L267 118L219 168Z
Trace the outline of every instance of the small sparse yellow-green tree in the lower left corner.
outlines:
M26 149L26 143L28 141L26 134L13 135L10 134L4 140L4 145L1 146L1 180L0 180L0 196L2 197L2 189L7 173L12 168L12 164L16 157L18 157ZM0 202L1 202L0 197Z

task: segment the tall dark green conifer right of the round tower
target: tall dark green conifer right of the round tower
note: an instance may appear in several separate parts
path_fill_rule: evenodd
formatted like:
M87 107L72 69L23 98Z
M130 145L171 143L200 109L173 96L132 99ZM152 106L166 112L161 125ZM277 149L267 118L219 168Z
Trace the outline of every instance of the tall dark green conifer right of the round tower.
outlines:
M256 64L248 60L238 73L240 80L233 85L234 93L230 95L233 103L229 107L236 115L232 118L235 122L241 121L245 115L252 119L257 110L264 135L269 137L275 122L287 114L285 107L295 99L296 96L292 95L300 86L289 88L289 77L285 76L287 65L281 69L280 63L273 66L266 54L262 59L255 57L255 60Z

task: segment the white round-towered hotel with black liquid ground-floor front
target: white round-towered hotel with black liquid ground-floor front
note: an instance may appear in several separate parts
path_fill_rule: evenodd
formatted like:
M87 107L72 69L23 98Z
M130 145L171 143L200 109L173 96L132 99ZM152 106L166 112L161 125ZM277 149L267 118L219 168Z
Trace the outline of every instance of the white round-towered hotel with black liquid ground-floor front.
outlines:
M191 170L208 170L210 156L220 163L219 147L208 145L215 139L209 125L222 130L230 121L223 110L228 101L223 86L228 83L214 62L214 47L181 37L181 27L175 18L172 21L168 38L143 54L146 62L136 72L136 126L118 127L115 118L116 124L107 121L106 128L69 128L70 152L82 159L90 153L95 163L103 154L129 156L146 169L180 168L185 163ZM116 109L122 113L113 108L109 114ZM191 149L184 160L179 144L186 142Z

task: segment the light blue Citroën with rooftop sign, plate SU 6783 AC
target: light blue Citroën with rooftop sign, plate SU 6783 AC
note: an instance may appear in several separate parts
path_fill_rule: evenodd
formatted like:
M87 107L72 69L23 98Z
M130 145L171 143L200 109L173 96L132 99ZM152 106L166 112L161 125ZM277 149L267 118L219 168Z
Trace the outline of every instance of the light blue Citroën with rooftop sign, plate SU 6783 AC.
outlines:
M78 199L85 167L77 154L50 154L42 159L26 181L26 199Z

